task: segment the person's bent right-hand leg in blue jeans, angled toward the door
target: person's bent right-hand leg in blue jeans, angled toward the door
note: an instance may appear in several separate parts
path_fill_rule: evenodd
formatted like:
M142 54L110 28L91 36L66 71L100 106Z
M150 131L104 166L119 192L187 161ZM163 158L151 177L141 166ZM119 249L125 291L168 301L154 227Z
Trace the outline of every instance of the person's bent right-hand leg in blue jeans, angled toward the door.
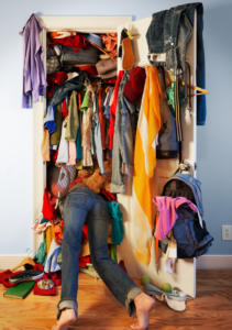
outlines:
M135 312L134 298L142 290L108 255L108 206L97 195L87 216L87 226L92 264L114 297L125 306L129 316L132 316Z

